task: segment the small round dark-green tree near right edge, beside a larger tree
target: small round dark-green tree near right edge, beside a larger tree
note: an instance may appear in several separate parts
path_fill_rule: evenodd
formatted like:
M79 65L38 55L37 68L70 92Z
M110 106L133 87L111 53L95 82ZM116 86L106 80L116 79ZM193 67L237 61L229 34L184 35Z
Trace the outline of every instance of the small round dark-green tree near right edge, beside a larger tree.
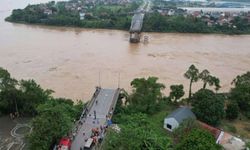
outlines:
M229 120L236 119L239 115L239 107L236 102L230 102L227 105L226 117Z

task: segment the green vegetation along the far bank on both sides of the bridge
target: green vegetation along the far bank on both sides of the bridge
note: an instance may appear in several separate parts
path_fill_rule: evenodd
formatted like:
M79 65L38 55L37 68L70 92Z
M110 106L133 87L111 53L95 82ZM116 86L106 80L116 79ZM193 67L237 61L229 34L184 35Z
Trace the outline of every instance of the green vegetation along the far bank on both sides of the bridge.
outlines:
M74 1L72 1L74 2ZM97 3L93 6L86 5L85 17L80 19L80 11L67 8L70 2L49 2L47 4L28 5L24 9L15 9L6 18L7 21L30 24L45 24L58 26L76 26L84 28L105 28L128 30L133 11L141 1L122 4ZM156 2L157 4L157 2ZM176 9L171 2L165 4L169 9ZM85 6L85 5L84 5ZM158 9L157 6L154 6ZM45 9L46 8L46 9ZM45 12L51 10L51 14ZM215 19L216 21L216 19ZM143 31L146 32L181 32L181 33L250 33L250 23L247 19L236 17L231 26L228 24L215 24L208 26L202 18L184 16L183 14L166 16L158 12L147 13L144 18ZM234 28L233 26L236 26Z

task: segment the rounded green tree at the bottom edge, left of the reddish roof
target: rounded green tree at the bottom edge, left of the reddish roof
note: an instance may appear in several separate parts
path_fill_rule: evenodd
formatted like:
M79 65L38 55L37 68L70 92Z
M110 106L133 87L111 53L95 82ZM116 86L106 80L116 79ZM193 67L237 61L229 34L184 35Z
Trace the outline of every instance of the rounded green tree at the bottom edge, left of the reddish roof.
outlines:
M215 143L215 138L207 131L193 129L176 145L176 150L221 150L222 147Z

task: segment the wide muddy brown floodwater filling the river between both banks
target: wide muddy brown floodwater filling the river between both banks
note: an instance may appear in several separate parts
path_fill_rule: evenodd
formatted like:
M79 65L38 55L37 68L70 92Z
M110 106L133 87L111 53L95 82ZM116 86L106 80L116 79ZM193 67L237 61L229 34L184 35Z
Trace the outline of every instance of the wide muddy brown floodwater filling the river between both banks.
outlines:
M191 64L219 77L221 91L228 91L236 75L250 70L250 35L144 33L147 44L130 44L125 31L4 21L11 9L31 2L38 3L0 1L0 66L17 79L35 79L57 97L88 100L99 84L131 90L134 78L148 76L159 77L166 94L171 84L187 90L183 74Z

